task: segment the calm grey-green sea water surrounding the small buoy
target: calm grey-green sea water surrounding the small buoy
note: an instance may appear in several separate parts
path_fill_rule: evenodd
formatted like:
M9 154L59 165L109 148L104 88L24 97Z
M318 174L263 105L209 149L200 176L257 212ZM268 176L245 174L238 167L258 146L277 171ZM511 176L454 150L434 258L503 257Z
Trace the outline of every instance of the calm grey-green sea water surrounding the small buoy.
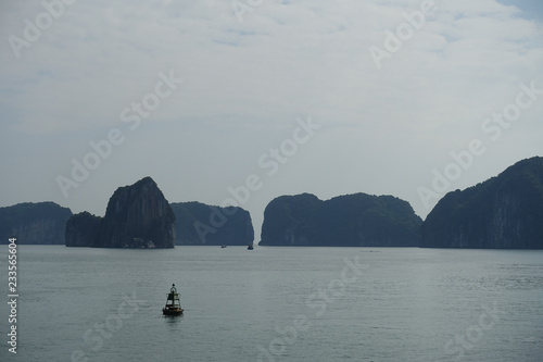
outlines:
M1 361L543 360L542 251L20 246L12 354L2 249Z

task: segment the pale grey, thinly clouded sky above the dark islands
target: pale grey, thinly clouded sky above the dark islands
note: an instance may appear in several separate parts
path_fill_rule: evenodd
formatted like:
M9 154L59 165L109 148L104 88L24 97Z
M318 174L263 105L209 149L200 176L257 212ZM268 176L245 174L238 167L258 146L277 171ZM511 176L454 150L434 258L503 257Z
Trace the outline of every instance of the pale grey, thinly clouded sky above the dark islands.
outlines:
M425 219L543 155L539 0L7 0L0 36L0 207L103 215L151 176L258 241L281 195Z

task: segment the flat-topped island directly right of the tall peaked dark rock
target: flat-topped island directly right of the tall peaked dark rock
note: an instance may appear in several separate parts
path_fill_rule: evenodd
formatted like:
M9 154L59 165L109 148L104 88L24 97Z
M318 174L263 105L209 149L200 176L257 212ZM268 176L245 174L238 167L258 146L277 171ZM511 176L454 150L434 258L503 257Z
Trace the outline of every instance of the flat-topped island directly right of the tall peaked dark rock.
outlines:
M172 203L176 216L176 245L253 244L251 215L241 208L219 208L200 202Z

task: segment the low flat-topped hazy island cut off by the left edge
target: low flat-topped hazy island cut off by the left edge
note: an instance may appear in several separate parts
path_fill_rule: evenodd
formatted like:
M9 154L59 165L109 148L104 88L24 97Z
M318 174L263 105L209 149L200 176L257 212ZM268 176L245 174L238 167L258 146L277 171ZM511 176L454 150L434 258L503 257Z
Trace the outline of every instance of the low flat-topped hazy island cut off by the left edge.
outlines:
M0 208L0 244L16 237L17 244L62 245L72 211L54 202L26 202Z

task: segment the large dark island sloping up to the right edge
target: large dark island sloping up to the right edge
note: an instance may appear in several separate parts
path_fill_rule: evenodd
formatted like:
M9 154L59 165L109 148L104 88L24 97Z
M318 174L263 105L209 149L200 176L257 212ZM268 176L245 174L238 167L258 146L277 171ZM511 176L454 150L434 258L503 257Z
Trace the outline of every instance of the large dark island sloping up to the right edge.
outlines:
M427 216L421 238L422 247L543 248L543 158L449 192Z

